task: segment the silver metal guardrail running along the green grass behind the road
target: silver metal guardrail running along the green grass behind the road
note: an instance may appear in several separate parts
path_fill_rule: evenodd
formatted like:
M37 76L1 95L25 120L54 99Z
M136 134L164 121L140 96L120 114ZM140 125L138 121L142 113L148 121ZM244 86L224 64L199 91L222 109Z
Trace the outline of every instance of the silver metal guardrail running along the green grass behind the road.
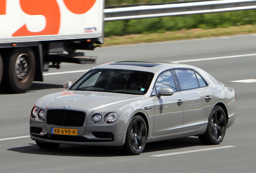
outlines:
M252 9L256 9L256 0L215 0L182 4L110 8L104 10L104 21L107 22L116 20L181 16L189 14L205 14Z

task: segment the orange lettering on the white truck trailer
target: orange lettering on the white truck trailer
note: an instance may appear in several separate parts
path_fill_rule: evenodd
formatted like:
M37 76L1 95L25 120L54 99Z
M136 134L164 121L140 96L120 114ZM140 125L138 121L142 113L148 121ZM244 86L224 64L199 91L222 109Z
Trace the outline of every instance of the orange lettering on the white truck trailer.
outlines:
M0 6L5 5L6 0L0 0ZM92 8L96 0L64 0L68 10L74 14L84 14ZM23 12L29 15L43 15L46 19L46 26L42 31L31 32L24 24L12 36L35 36L58 34L60 29L60 8L56 0L20 0ZM2 10L2 11L1 11ZM1 12L5 13L0 7Z

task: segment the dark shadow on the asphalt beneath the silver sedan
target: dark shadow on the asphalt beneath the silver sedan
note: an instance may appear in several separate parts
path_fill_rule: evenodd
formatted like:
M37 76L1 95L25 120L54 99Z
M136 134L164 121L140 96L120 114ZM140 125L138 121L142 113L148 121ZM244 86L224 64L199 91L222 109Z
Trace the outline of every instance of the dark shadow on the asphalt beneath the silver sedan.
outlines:
M199 139L196 137L183 137L166 141L147 143L142 153L154 151L165 151L172 149L181 149L187 147L200 146ZM57 149L41 149L36 144L29 144L24 147L7 149L19 153L37 154L37 155L55 155L55 156L73 156L73 157L118 157L124 155L121 150L112 147L82 146L82 145L60 145ZM168 151L171 152L171 151Z

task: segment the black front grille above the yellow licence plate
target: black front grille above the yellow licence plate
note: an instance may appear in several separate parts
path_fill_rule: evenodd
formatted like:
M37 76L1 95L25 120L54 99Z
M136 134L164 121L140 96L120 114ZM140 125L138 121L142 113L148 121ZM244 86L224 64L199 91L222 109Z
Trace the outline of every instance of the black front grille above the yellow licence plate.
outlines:
M46 123L58 126L82 127L85 123L85 113L65 109L48 110Z

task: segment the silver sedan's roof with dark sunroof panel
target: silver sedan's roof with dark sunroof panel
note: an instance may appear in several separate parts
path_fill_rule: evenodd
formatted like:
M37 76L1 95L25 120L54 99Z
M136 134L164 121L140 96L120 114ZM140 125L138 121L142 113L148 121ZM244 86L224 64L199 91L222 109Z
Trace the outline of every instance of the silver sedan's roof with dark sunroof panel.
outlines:
M172 69L172 68L192 68L196 67L186 65L186 64L177 64L173 62L151 62L151 61L117 61L109 62L106 64L101 64L95 68L111 68L111 69L126 69L126 70L139 70L153 72L155 74Z

